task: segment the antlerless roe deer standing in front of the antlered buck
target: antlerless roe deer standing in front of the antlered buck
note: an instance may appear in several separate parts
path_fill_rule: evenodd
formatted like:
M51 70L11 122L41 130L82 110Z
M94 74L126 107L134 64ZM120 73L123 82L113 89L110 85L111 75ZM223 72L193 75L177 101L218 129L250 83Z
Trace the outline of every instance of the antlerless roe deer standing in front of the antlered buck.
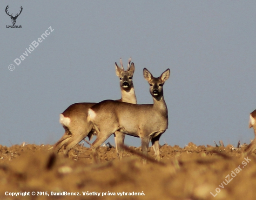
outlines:
M101 144L116 131L140 137L144 155L148 155L148 145L151 140L156 159L160 160L159 139L168 127L168 111L162 87L169 78L170 70L167 69L160 77L155 78L144 68L143 75L150 85L149 91L154 104L139 105L104 100L89 108L88 120L92 122L97 133L97 139L91 145L94 160L97 158L97 150Z

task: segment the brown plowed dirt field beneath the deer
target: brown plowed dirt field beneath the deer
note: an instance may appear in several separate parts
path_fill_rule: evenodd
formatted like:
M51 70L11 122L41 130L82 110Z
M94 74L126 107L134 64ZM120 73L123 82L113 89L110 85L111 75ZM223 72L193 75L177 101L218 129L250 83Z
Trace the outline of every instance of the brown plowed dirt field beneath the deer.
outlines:
M51 145L0 145L0 199L255 200L256 155L243 148L166 144L160 163L143 164L135 153L118 160L115 148L100 147L101 162L93 164L82 145L69 158L53 154ZM152 147L149 156L155 158Z

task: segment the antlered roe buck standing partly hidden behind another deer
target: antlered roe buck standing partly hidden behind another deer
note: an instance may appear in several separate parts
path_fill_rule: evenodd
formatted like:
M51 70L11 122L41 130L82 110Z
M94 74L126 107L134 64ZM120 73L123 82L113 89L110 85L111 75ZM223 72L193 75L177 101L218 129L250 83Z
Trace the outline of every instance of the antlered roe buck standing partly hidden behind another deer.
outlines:
M135 90L133 86L133 74L135 71L134 63L131 58L128 60L128 68L125 71L120 59L121 68L115 63L116 75L120 78L121 99L124 101L136 104ZM77 145L81 140L88 136L89 140L93 137L94 131L92 124L87 120L88 109L96 103L75 103L67 107L67 109L60 114L60 123L65 129L64 135L59 141L54 144L54 152L58 153L62 146L64 146L63 153L68 155L71 148ZM114 133L114 132L113 132ZM117 155L122 157L122 145L124 143L124 134L121 132L115 133L115 143Z

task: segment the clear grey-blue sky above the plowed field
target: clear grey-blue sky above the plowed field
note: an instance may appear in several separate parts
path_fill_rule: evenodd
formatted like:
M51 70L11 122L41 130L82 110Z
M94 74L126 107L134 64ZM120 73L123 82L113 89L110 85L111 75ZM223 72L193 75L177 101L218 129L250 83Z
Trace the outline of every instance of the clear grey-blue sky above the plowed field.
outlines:
M7 5L13 15L23 7L16 20L22 28L7 28ZM161 144L254 138L255 0L1 0L0 19L1 145L54 144L69 105L120 99L115 62L130 56L139 104L153 102L143 68L154 76L171 70ZM49 27L54 31L17 66L13 60ZM125 143L140 146L140 139L127 136Z

